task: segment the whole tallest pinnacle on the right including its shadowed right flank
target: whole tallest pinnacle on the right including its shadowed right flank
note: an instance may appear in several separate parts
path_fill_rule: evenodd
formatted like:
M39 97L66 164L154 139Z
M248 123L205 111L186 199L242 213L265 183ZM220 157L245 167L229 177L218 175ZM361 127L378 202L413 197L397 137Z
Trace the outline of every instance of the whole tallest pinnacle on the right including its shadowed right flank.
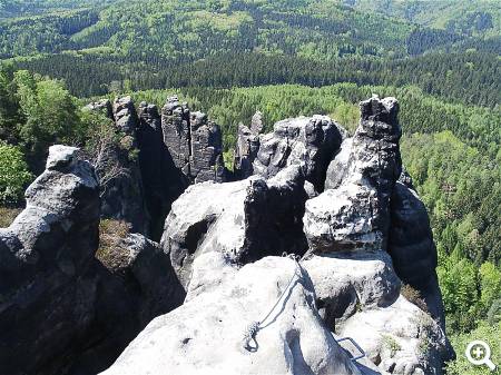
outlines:
M361 126L328 166L325 186L331 190L306 204L305 233L318 249L343 248L346 238L332 240L348 237L357 248L369 244L387 250L399 277L421 293L443 326L436 249L426 209L402 172L397 108L393 98L362 102ZM358 199L366 188L371 194Z

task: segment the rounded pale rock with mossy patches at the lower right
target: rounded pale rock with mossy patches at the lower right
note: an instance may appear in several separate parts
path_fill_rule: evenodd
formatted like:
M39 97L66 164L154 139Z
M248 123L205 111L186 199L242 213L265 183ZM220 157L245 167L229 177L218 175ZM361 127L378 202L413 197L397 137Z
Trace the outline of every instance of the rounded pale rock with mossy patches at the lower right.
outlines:
M450 356L440 325L403 296L387 307L354 314L336 328L355 339L382 372L395 375L443 374Z

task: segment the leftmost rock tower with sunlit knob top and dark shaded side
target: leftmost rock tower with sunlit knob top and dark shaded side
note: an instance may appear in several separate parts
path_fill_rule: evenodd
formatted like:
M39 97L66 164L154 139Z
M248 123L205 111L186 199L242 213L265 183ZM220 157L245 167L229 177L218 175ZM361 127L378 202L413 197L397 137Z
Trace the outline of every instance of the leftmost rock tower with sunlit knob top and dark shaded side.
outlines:
M1 374L60 373L96 314L99 184L77 152L52 146L26 209L0 229Z

